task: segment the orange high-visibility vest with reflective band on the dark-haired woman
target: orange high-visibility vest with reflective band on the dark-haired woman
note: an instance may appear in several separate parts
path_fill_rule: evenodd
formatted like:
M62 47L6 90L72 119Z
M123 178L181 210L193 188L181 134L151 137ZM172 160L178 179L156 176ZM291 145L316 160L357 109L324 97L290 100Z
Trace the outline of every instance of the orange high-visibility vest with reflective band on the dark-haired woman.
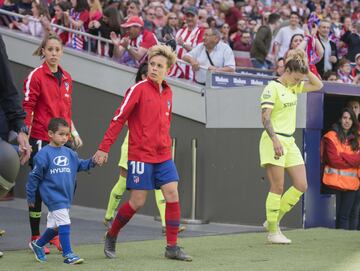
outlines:
M353 154L350 145L342 144L338 139L336 132L330 131L324 135L324 138L330 139L335 145L338 153ZM338 190L358 190L360 185L359 168L337 169L325 165L323 174L323 183L331 188Z

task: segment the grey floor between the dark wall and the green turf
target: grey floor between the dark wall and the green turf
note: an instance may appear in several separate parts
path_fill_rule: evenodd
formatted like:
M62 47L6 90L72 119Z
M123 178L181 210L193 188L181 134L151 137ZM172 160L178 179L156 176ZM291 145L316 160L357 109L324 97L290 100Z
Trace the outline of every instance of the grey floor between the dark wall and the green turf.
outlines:
M46 208L44 207L44 210ZM74 245L102 243L105 227L102 223L105 210L72 206L71 239ZM46 213L41 219L41 230L46 227ZM0 238L1 250L17 250L28 247L30 227L27 204L24 199L0 201L0 228L6 231ZM203 225L186 225L182 237L220 235L231 233L259 232L262 227L210 223ZM153 217L135 215L119 235L118 241L156 240L164 238L161 224Z

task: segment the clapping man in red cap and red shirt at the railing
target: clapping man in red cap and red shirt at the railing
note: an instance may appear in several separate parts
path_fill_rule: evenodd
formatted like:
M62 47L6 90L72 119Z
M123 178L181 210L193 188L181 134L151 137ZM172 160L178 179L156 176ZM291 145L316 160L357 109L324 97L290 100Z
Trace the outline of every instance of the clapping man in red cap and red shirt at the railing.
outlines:
M144 29L144 21L138 16L130 17L121 27L126 29L121 40L116 33L110 34L114 43L113 57L122 64L138 67L146 60L147 51L157 44L155 34Z

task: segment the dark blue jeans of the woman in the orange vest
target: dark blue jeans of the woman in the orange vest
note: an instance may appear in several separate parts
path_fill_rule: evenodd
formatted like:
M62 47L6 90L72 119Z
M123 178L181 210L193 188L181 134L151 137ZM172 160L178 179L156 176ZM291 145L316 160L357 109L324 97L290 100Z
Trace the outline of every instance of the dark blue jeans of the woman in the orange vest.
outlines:
M350 229L350 213L355 202L357 191L339 191L336 194L336 228Z

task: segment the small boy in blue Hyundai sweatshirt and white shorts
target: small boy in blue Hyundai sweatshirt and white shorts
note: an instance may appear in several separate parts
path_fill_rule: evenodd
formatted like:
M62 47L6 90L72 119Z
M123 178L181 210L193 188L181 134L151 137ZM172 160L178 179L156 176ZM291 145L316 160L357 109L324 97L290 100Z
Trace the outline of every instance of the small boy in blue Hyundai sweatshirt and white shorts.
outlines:
M69 209L77 172L89 170L95 164L92 159L80 159L76 152L64 146L70 133L69 124L64 119L51 119L48 133L50 143L35 155L34 168L26 184L29 206L35 204L35 192L39 188L41 198L49 209L47 229L40 239L30 242L29 246L36 260L45 262L44 246L59 235L64 263L80 264L84 260L71 250Z

